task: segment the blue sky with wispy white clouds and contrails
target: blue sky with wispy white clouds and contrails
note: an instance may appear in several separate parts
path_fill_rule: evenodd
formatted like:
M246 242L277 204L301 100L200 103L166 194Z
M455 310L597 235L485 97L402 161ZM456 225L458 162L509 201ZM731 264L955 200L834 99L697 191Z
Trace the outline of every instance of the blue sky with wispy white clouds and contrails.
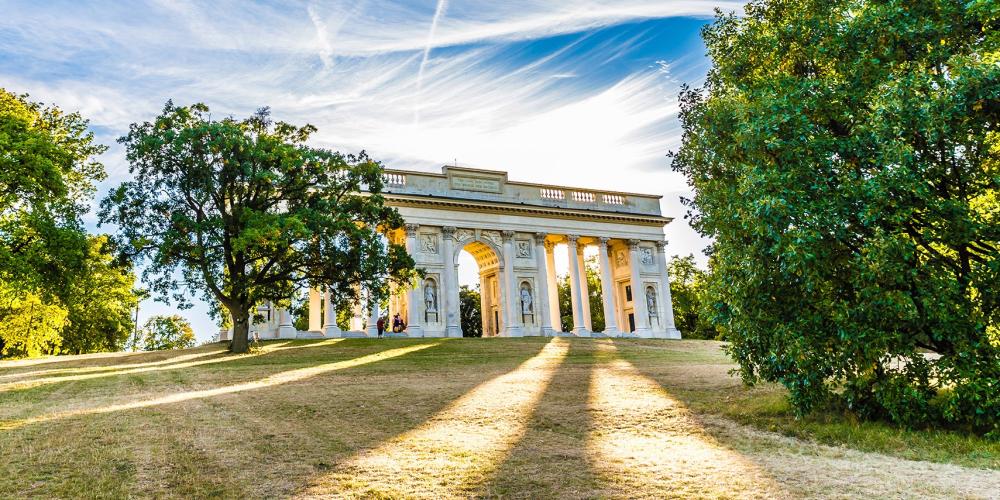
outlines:
M701 256L685 223L677 94L709 61L716 7L666 0L113 2L0 0L0 86L80 111L110 186L115 140L167 99L220 116L269 106L313 142L393 168L507 170L513 180L661 194L671 254ZM87 218L96 228L93 214ZM108 230L108 228L103 228ZM172 311L152 302L141 317ZM205 307L181 312L200 339Z

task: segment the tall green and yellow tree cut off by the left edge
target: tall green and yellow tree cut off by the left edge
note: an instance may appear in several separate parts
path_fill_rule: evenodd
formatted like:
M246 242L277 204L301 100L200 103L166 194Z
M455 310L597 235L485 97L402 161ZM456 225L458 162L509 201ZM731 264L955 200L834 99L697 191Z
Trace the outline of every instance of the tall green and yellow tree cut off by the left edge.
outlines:
M80 274L80 216L104 178L79 114L0 89L0 356L59 352L60 296Z

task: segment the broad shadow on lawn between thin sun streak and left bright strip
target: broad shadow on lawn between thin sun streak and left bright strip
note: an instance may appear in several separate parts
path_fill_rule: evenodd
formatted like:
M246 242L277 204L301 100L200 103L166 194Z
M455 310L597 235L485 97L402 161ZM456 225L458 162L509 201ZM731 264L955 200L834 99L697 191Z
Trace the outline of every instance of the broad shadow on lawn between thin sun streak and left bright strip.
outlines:
M420 344L427 341L358 339L338 344L338 351L360 354ZM56 469L64 471L69 477L63 479L69 482L95 484L113 477L128 485L130 494L287 496L353 452L419 426L473 387L536 355L543 346L537 342L507 349L499 343L481 343L470 353L450 341L439 342L432 349L322 373L294 384L8 430L2 440L6 446L0 443L5 456L19 456L24 446L49 439L53 433L71 436L77 443L66 443L63 449L86 449L81 441L88 439L100 445L83 457L86 466L72 453L46 449L30 458L21 453L19 465L11 468L14 464L0 463L0 469L6 466L21 474L20 484L48 478L42 471ZM330 361L318 352L313 356L296 363L295 369ZM282 372L275 371L283 366L276 366L274 359L255 361L261 364L227 364L219 376L253 368ZM91 463L95 456L103 459ZM59 490L59 483L45 483L55 489L43 494L74 491ZM0 481L2 493L18 496L25 490L5 490Z

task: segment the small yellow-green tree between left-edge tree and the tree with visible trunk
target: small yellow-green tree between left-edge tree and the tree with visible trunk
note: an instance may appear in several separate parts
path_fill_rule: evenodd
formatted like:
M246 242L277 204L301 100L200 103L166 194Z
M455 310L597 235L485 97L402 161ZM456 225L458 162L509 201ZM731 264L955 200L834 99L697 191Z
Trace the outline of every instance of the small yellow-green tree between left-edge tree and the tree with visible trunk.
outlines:
M135 328L138 304L132 269L114 260L107 236L90 238L83 268L61 292L68 323L62 352L120 351Z

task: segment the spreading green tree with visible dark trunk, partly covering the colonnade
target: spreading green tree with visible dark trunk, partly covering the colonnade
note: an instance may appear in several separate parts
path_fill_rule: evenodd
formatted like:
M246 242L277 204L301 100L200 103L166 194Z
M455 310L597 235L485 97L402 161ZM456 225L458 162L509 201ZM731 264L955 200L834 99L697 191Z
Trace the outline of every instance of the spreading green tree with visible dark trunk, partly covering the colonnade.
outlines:
M234 352L247 351L264 301L287 306L309 285L332 286L338 303L359 290L381 301L412 278L405 249L381 237L403 222L382 197L382 166L306 145L315 130L266 109L213 120L203 104L168 102L120 139L134 178L103 200L102 221L119 226L161 298L221 304Z

